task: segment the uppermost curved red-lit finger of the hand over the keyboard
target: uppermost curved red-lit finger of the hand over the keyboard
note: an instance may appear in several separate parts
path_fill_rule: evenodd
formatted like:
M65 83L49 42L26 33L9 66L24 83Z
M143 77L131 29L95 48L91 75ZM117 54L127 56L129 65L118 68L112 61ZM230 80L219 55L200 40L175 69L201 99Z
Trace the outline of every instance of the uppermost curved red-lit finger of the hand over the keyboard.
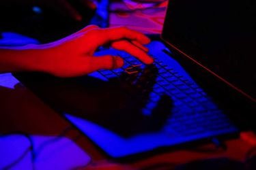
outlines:
M143 35L143 33L127 29L126 27L115 27L98 30L98 46L102 46L103 44L107 44L111 41L117 41L120 39L138 41L140 44L150 43L150 39Z

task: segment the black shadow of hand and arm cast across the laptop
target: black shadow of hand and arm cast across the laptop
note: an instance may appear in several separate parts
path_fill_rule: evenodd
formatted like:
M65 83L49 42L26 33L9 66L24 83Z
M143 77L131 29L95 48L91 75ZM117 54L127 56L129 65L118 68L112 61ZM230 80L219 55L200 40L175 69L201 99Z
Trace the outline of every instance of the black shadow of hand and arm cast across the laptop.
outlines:
M143 114L157 73L156 67L150 65L137 73L122 73L108 82L91 76L55 78L40 73L19 73L16 77L57 111L85 118L129 137L159 131L171 113L171 98L162 95L151 114Z

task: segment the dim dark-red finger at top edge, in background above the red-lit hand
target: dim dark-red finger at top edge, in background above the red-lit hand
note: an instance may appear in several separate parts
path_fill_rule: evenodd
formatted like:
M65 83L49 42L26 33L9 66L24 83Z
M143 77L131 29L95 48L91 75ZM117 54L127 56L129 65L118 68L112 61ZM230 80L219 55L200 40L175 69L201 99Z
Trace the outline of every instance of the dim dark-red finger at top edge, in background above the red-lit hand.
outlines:
M72 5L70 5L70 3L68 3L68 1L66 1L66 0L59 1L58 5L59 5L59 12L63 16L68 15L76 21L81 21L83 19L82 16L79 14L79 12L77 12L76 9L74 7L72 7Z

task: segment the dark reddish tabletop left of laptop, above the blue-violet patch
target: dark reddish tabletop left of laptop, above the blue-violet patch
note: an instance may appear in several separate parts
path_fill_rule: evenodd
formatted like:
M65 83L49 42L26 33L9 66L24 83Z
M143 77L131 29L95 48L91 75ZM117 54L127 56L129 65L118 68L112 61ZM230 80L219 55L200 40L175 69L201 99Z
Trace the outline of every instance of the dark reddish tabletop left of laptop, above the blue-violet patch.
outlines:
M0 134L59 135L70 126L31 91L0 86Z

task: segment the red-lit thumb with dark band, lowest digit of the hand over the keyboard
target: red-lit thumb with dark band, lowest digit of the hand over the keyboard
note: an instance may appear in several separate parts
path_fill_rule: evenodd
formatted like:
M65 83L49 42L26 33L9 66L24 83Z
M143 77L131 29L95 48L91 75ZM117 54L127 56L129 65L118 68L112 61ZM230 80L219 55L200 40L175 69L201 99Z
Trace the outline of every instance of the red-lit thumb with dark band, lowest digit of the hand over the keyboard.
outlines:
M98 69L117 69L124 65L124 60L119 56L97 56L89 57L89 71L97 71Z

